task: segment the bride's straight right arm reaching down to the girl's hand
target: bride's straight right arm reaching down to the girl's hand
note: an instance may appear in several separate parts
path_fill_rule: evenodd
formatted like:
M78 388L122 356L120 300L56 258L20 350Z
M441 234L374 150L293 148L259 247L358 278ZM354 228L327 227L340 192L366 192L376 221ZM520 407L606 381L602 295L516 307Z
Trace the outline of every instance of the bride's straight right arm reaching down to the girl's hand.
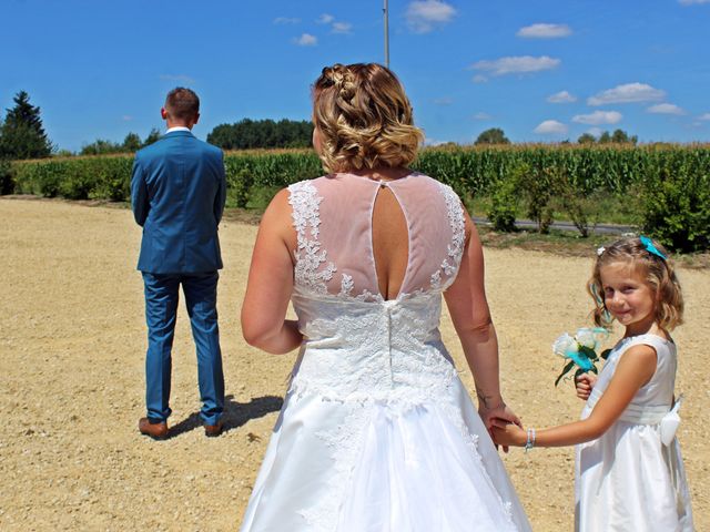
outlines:
M466 247L456 280L444 294L452 321L474 376L478 410L487 428L500 418L519 423L500 395L498 338L484 286L484 256L476 227L466 217Z

